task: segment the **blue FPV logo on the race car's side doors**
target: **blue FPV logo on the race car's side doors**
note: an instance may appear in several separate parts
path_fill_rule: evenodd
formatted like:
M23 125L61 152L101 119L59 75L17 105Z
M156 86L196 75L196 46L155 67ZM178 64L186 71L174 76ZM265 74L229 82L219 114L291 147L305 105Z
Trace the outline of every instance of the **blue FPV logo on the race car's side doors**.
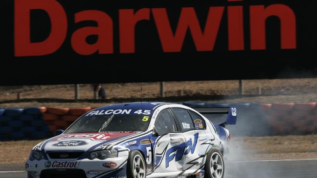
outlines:
M189 151L191 152L191 154L193 154L196 148L197 140L198 140L198 133L194 135L194 142L192 142L192 139L190 138L189 141L187 141L186 143L183 142L181 144L178 144L168 149L166 151L165 167L168 167L170 161L174 160L174 158L175 158L175 161L181 160L183 155L187 155ZM187 147L188 149L186 149Z

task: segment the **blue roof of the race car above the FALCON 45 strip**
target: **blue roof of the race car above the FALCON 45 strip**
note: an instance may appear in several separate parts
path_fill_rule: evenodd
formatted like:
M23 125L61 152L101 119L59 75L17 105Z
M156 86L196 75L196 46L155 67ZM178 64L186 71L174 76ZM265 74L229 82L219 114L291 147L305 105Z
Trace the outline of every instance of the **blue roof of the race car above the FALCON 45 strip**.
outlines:
M143 110L154 110L158 106L169 105L174 103L163 103L163 102L135 102L135 103L121 103L121 104L114 104L114 105L106 105L102 107L98 107L96 109L143 109Z

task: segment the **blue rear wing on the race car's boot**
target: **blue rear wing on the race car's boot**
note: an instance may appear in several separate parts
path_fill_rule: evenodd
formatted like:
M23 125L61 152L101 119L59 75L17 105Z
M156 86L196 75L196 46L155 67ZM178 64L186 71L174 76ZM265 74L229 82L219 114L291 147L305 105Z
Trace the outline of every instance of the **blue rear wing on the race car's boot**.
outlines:
M228 114L227 119L220 126L235 125L237 123L236 107L193 107L200 114Z

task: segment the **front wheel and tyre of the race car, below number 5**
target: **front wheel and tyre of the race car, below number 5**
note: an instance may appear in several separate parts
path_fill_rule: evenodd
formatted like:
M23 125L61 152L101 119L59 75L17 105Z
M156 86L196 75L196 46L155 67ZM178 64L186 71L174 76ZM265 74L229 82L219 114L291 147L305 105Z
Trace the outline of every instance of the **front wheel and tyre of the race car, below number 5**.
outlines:
M138 150L133 150L129 153L127 178L146 178L146 164Z

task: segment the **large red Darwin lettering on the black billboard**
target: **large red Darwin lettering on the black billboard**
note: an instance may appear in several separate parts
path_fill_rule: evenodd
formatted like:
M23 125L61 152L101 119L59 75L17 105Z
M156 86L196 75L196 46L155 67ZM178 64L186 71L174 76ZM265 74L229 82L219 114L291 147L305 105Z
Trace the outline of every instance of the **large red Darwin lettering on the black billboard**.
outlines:
M220 23L223 20L226 20L228 27L228 50L245 50L244 8L249 8L250 12L248 14L250 27L248 28L250 28L251 50L266 49L266 20L272 16L277 17L280 22L280 48L297 48L296 16L287 5L235 5L206 8L209 11L205 18L204 29L199 24L195 8L182 7L175 31L172 30L172 26L175 25L170 23L166 8L119 9L119 53L136 52L135 26L141 20L154 21L162 51L165 53L180 52L187 31L189 31L197 51L213 51ZM31 42L30 39L30 11L35 9L45 11L51 22L50 34L41 42ZM71 36L72 49L80 55L114 53L114 22L106 12L91 9L69 14L57 0L15 0L14 11L15 56L40 56L54 53L65 42L66 35ZM225 12L227 19L223 18ZM153 18L150 18L151 15ZM74 16L75 21L67 21L67 16ZM69 24L87 20L96 21L98 26L86 26L69 32ZM86 42L87 36L91 35L98 36L98 40L94 44Z

